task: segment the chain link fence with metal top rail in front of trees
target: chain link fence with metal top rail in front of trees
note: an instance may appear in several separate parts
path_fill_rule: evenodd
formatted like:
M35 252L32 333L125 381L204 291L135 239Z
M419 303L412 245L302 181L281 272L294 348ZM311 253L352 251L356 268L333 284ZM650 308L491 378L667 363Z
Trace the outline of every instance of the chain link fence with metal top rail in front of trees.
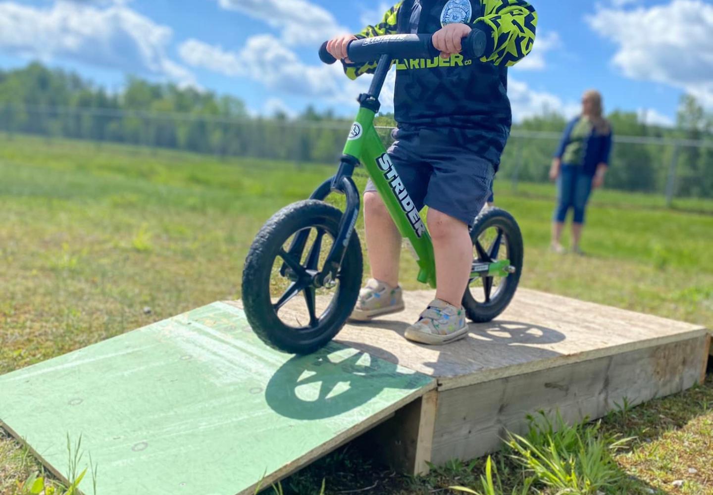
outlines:
M11 138L29 133L96 143L284 160L337 163L350 128L348 121L236 119L191 113L158 113L113 108L0 107L0 132ZM385 144L391 128L378 128ZM498 180L548 180L560 133L513 129ZM674 198L713 198L713 141L615 136L607 188Z

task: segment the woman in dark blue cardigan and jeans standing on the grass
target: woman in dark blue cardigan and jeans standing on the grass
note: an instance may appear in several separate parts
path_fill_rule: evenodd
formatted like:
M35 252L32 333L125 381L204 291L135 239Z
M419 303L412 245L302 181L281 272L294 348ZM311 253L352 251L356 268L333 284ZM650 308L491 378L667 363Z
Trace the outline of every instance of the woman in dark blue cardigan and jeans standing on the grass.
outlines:
M557 208L552 225L554 252L563 253L560 243L565 218L574 210L572 221L572 251L582 254L580 239L585 210L592 188L604 183L612 148L612 129L603 116L602 95L587 91L582 98L582 114L571 121L550 168L550 180L557 181Z

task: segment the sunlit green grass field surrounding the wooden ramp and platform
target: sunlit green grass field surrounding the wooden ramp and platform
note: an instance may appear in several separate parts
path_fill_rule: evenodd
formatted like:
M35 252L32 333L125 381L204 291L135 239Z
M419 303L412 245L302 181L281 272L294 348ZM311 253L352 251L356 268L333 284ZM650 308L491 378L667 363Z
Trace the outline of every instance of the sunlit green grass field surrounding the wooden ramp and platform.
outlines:
M242 262L260 225L332 171L0 136L0 373L240 297ZM661 198L597 192L583 240L588 255L576 257L547 250L553 194L550 185L521 184L513 193L496 181L496 202L523 229L525 287L713 327L713 202L667 210ZM407 289L419 287L414 266L404 257ZM695 439L711 447L713 384L667 401L635 409L636 421L612 420L622 434L655 430L617 457L652 489L671 489L662 473L690 458ZM675 411L660 413L675 416L671 422L651 415L661 408ZM711 465L711 451L696 462ZM0 494L14 494L33 469L0 433ZM403 480L395 490L443 489L454 472ZM707 473L674 490L713 493ZM328 493L343 489L327 484Z

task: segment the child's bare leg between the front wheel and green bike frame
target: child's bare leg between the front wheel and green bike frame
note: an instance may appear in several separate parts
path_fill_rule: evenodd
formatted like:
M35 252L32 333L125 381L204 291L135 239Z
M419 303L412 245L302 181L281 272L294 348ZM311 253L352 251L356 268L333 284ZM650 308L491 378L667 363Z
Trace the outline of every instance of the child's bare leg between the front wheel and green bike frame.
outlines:
M398 287L401 233L376 191L364 193L364 223L371 277Z

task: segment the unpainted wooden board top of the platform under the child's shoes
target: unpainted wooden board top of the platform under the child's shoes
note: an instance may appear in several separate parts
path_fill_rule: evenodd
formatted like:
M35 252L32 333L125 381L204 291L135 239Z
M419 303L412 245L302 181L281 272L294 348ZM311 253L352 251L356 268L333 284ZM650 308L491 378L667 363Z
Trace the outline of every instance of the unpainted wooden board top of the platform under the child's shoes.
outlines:
M297 298L295 298L297 300ZM704 335L700 325L520 288L490 323L471 323L468 337L440 347L404 338L434 292L406 292L406 310L366 324L348 323L337 341L438 379L440 389L582 362ZM240 302L237 302L239 305ZM324 301L322 301L324 305ZM297 313L302 305L295 306ZM297 314L295 317L304 319Z

